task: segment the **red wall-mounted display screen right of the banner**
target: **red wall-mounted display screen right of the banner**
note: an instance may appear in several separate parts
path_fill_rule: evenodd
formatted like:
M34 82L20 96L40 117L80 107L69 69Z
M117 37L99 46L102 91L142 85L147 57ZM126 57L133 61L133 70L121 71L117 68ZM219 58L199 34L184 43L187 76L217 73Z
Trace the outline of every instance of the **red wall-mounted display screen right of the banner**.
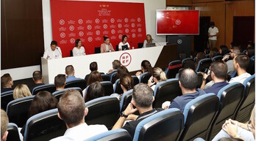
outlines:
M199 10L157 10L157 34L199 34Z

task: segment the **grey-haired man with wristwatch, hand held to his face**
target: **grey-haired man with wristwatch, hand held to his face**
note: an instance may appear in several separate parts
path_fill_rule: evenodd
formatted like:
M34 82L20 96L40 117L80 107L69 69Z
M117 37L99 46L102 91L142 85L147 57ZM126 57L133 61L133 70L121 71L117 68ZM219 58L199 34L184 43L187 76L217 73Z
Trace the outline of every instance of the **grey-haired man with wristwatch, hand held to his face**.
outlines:
M126 110L121 113L121 117L115 123L113 129L126 129L131 137L134 137L135 129L138 123L140 123L143 119L149 117L150 115L153 115L154 113L162 110L161 108L153 109L153 93L154 91L152 90L152 88L149 87L149 85L143 83L135 85L132 91L132 101L129 103ZM136 108L134 108L134 106ZM135 113L137 110L140 115L132 115L132 113ZM126 121L126 119L132 119L133 121L129 121L124 125L124 121Z

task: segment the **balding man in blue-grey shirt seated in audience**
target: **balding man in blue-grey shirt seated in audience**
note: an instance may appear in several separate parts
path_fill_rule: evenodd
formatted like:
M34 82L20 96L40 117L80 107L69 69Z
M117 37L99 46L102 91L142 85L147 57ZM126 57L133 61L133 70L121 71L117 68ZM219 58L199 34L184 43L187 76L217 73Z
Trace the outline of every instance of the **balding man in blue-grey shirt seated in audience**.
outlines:
M178 108L182 113L185 105L197 96L205 94L205 91L196 89L198 77L193 69L181 69L179 71L179 87L182 90L182 96L177 96L172 102L164 102L163 109Z

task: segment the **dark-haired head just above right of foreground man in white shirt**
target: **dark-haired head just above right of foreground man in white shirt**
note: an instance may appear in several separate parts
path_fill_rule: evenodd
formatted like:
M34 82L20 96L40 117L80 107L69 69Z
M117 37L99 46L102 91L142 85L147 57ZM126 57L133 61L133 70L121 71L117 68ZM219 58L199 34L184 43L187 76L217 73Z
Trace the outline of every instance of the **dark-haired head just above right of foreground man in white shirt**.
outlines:
M102 96L104 96L104 88L97 81L89 85L87 93L85 94L84 97L85 97L85 102L89 102L90 100L93 100Z

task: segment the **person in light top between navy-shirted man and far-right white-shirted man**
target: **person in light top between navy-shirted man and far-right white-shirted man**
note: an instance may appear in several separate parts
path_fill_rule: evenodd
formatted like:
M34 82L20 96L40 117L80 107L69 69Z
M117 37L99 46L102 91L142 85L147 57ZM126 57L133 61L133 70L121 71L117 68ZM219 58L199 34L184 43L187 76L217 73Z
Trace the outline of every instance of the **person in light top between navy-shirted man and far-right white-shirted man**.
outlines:
M232 73L235 71L234 65L233 65L233 58L235 58L235 56L237 56L239 53L241 53L239 47L232 47L232 49L230 49L230 55L224 56L224 58L222 58L223 61L228 60L227 75L232 75Z

